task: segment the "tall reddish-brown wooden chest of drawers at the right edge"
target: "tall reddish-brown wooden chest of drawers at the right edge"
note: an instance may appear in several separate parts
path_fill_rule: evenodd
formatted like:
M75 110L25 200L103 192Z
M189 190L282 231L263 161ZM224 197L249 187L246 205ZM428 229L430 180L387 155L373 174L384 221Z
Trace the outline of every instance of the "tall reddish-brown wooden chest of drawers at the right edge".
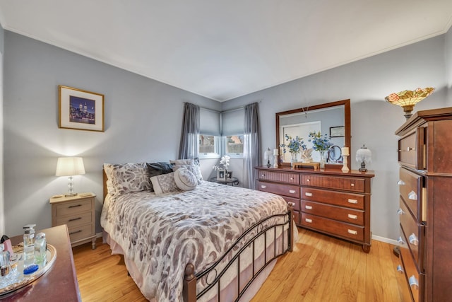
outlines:
M398 253L412 301L451 301L452 108L418 111L397 131Z

